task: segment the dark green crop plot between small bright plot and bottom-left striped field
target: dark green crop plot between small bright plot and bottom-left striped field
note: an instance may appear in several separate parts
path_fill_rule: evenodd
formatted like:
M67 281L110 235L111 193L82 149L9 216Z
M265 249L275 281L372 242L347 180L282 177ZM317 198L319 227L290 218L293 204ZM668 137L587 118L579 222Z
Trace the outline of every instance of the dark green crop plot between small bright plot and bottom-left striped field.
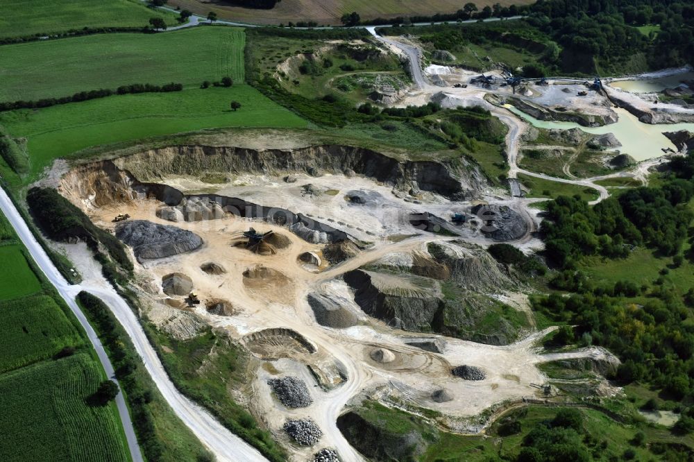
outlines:
M49 296L0 302L0 319L3 332L0 373L50 358L62 348L83 343L75 326Z

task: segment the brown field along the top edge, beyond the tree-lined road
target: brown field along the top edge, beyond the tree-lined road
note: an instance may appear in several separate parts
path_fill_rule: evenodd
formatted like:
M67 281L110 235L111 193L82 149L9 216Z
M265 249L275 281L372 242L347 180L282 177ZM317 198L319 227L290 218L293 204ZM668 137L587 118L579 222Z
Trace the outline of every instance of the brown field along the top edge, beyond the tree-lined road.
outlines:
M232 2L229 2L232 3ZM204 0L169 0L169 5L188 8L200 15L208 11L217 12L221 19L235 19L257 24L280 24L298 21L315 21L319 24L339 25L340 17L346 12L356 11L362 19L377 17L397 17L412 15L434 15L452 13L461 9L465 2L455 0L282 0L271 10L254 10L229 6L226 2L210 2ZM502 6L511 4L532 3L528 0L477 0L477 8L492 6L500 3Z

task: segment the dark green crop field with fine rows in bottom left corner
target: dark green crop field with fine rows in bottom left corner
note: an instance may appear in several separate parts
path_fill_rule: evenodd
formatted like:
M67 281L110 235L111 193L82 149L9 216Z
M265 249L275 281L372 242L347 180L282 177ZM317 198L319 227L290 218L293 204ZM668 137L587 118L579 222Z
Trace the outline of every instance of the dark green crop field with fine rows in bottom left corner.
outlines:
M1 375L0 459L130 460L115 409L88 404L104 378L87 354Z

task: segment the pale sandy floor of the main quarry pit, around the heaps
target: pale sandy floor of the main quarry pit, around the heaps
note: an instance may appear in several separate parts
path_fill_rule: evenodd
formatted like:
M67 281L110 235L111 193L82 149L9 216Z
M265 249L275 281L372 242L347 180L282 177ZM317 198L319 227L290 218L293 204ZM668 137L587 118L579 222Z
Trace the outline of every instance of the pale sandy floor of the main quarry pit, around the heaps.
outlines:
M446 339L447 347L443 354L434 354L405 345L405 339L418 336L411 332L393 330L383 323L365 316L356 305L349 309L359 315L362 325L344 330L323 327L316 323L312 309L307 304L307 294L316 291L325 284L332 284L335 291L341 291L345 298L353 298L350 289L344 283L332 281L342 273L358 268L375 259L390 253L407 253L421 250L427 241L451 239L436 237L432 234L414 235L404 240L387 239L392 234L403 234L404 225L390 222L391 216L383 211L389 207L409 209L412 203L393 196L390 189L376 185L364 178L303 178L301 181L313 185L339 189L346 187L378 191L383 197L383 213L377 214L373 209L353 209L341 194L330 196L321 194L313 198L302 198L296 192L298 184L287 185L263 178L249 184L244 178L243 185L225 185L223 193L233 193L248 200L266 202L274 200L274 205L291 205L292 209L301 212L321 213L323 219L344 220L353 229L366 227L378 230L377 236L371 236L373 245L357 257L338 266L325 268L325 271L312 272L298 262L298 255L306 251L320 252L320 244L303 241L286 228L266 223L257 223L247 219L228 216L225 219L200 221L194 223L176 223L180 228L191 230L203 239L203 246L198 250L176 257L136 264L137 278L141 286L149 288L152 300L164 300L167 296L161 292L160 282L164 275L173 272L185 273L192 278L194 291L202 303L194 308L196 314L207 323L228 330L238 341L245 342L247 335L278 327L301 333L316 346L313 354L303 352L286 352L286 357L272 361L273 368L262 368L253 382L251 407L256 416L262 416L266 425L282 440L287 438L282 431L282 424L290 417L313 418L323 429L321 447L336 447L344 460L359 460L359 455L346 443L335 425L335 419L344 405L357 393L364 390L380 388L380 393L395 393L406 398L417 407L435 409L452 418L469 418L484 411L492 404L509 399L533 396L536 388L530 384L541 384L545 377L535 367L544 361L543 356L533 346L532 339L505 347L483 345L479 343ZM170 184L183 189L196 189L201 185L192 180L179 178ZM209 185L208 185L209 186ZM92 219L103 228L113 228L113 217L119 213L128 213L131 219L145 219L155 223L171 225L158 219L155 210L161 204L155 200L138 200L134 203L117 207L105 207L92 211ZM431 198L432 206L450 207L443 198ZM320 212L320 211L323 212ZM334 212L334 214L333 214ZM328 215L328 216L325 216ZM395 223L398 223L395 221ZM333 224L331 222L331 224ZM286 248L278 249L275 255L257 255L243 246L232 246L239 235L251 225L262 232L273 230L283 234L289 240ZM409 226L409 225L407 225ZM364 229L364 228L362 228ZM407 228L409 234L412 227ZM415 230L416 231L416 230ZM478 237L482 240L483 237ZM474 237L471 236L471 240ZM70 252L71 255L85 254L83 249ZM201 271L205 262L216 262L226 268L222 275L209 275ZM77 258L76 264L83 274L96 273L93 263L88 258ZM273 270L273 276L263 280L251 280L244 277L244 271L262 265ZM182 298L182 297L181 297ZM208 314L205 302L210 299L228 300L234 308L234 316L217 316ZM527 300L507 296L508 301L519 309L527 309ZM244 339L246 337L246 339ZM534 337L533 337L534 339ZM378 363L369 357L373 348L387 348L396 355L393 363ZM580 355L580 354L579 354ZM343 370L348 379L344 384L330 391L325 391L309 373L307 365L312 365L323 373L335 375L336 368ZM466 382L450 374L452 366L469 364L483 368L487 378L480 382ZM314 404L306 409L285 409L274 400L266 385L270 377L269 370L279 371L280 375L297 375L307 382ZM385 387L385 388L383 388ZM452 402L436 403L430 395L434 388L444 387L456 397ZM466 430L469 428L466 427ZM295 460L304 460L316 447L298 449L291 447Z

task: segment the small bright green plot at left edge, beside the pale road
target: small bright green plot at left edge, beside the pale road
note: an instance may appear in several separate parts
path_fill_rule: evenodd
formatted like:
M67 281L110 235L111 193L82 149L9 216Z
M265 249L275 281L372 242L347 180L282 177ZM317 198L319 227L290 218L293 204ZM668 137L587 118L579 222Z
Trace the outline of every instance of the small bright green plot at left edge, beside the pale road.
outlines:
M0 222L0 228L2 226ZM41 284L26 263L21 246L0 247L0 262L0 300L24 297L41 290Z

